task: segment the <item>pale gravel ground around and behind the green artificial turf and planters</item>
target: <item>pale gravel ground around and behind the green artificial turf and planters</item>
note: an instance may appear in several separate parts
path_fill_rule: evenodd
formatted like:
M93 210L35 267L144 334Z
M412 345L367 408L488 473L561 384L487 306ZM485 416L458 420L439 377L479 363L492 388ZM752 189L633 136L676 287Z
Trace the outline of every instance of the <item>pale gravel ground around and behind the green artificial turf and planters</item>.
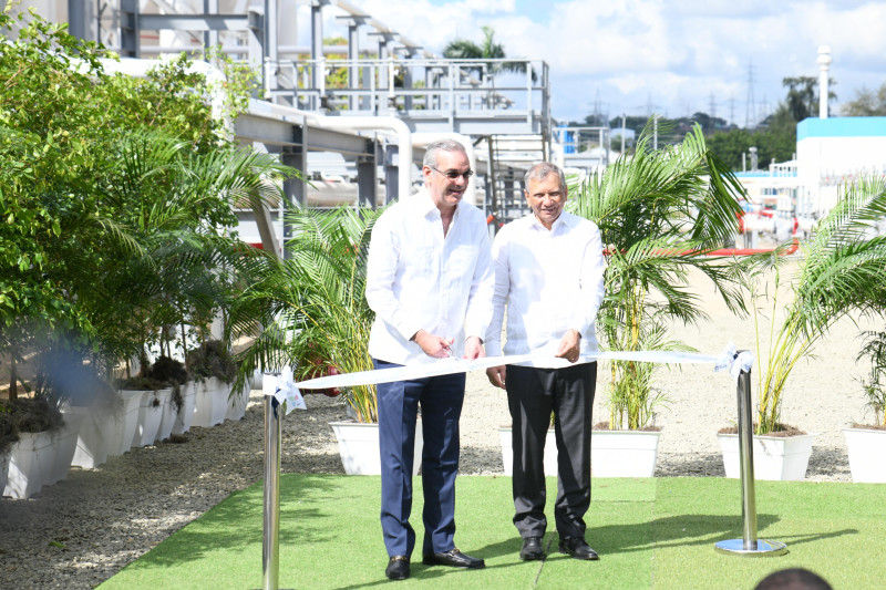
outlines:
M674 335L715 354L729 341L753 348L753 322L730 315L715 301L711 321ZM849 482L842 428L864 421L854 381L858 328L838 323L818 358L801 364L783 402L783 421L817 434L807 480ZM602 375L601 377L602 379ZM662 369L657 384L669 398L656 475L724 475L715 433L735 421L734 383L709 365ZM754 383L755 391L755 383ZM595 418L606 420L604 395ZM161 443L111 457L97 469L73 468L66 479L27 500L0 499L0 588L92 588L169 535L262 475L264 410L254 391L244 420L192 428L182 444ZM284 421L285 473L341 474L328 423L344 417L339 400L308 395L307 412ZM464 475L502 474L496 427L508 423L505 394L485 374L468 375L462 415Z

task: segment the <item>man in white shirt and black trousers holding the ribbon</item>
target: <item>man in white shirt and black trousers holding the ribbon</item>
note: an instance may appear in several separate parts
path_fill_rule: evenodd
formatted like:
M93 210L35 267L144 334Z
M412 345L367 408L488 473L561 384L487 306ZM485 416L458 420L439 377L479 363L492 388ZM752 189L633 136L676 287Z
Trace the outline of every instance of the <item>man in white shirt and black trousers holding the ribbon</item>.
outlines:
M596 225L563 210L566 180L554 164L533 166L524 178L533 214L507 224L493 242L495 311L486 333L491 356L559 356L575 363L597 351L595 318L604 298L602 242ZM597 363L563 369L507 365L486 371L507 390L513 421L514 525L523 538L519 557L543 559L545 436L554 412L557 441L557 500L554 518L559 550L576 559L597 559L585 541L590 506L590 425Z

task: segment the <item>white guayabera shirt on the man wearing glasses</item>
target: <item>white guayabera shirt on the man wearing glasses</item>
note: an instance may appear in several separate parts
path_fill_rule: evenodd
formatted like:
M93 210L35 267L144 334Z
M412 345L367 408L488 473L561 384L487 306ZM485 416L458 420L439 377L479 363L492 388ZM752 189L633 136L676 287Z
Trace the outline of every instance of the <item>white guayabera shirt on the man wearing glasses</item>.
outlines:
M460 203L443 236L440 210L425 189L392 205L375 221L369 246L367 301L375 312L369 353L398 364L432 362L410 342L425 330L464 341L483 339L492 318L495 277L483 213Z

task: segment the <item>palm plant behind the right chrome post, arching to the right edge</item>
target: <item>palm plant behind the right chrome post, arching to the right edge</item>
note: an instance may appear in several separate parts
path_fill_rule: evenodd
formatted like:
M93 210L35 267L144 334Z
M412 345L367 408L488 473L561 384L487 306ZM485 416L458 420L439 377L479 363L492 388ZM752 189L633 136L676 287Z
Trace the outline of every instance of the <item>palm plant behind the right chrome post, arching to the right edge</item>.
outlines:
M886 180L863 178L847 186L823 218L792 280L793 299L770 332L769 359L760 374L756 434L782 429L781 400L787 377L836 321L849 312L879 313L886 301L886 237L865 239L886 215ZM759 356L759 353L758 353Z

